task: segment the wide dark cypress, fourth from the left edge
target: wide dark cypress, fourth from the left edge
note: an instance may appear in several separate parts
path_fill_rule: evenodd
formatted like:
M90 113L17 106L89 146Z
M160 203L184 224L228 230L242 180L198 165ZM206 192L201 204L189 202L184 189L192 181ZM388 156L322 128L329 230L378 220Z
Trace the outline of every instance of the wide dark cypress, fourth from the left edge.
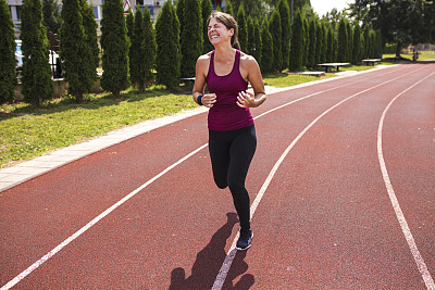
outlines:
M101 49L102 77L101 87L119 98L122 90L129 86L127 27L125 25L123 1L105 0L102 5Z

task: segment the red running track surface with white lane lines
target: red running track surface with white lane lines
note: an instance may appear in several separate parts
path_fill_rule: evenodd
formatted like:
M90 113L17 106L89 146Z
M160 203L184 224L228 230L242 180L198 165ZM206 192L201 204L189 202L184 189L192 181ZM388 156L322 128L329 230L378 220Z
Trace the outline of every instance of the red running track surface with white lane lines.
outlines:
M1 289L434 289L434 91L407 64L253 109L247 252L207 114L4 190Z

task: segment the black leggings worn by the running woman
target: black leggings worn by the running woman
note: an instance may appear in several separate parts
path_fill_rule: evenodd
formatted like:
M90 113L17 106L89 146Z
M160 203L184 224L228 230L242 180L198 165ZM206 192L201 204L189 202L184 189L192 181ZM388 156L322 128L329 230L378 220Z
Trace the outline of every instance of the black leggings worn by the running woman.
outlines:
M209 130L214 182L221 189L229 187L243 229L250 229L250 201L245 179L256 148L253 125L229 131Z

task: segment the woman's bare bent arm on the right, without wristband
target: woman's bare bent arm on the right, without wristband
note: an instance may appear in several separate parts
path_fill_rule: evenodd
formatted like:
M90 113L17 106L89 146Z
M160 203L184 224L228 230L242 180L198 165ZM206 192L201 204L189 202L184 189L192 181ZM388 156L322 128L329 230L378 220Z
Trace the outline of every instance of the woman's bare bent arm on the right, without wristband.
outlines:
M264 83L263 78L261 77L260 66L256 59L249 56L245 63L248 71L247 78L252 86L253 93L248 91L239 92L237 97L237 104L240 108L256 108L261 105L266 99Z

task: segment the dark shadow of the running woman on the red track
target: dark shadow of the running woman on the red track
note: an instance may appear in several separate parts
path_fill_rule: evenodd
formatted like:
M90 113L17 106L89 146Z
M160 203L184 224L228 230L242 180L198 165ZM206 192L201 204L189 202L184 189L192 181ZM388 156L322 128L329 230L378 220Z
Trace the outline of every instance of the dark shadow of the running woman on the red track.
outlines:
M171 272L170 290L211 289L226 257L225 244L231 237L234 225L238 222L237 214L227 213L227 222L211 238L209 244L197 254L197 260L191 267L191 275L186 278L184 268L175 268ZM244 261L246 251L236 253L229 268L223 289L249 289L254 278L250 274L244 275L233 286L233 280L248 270L248 264Z

